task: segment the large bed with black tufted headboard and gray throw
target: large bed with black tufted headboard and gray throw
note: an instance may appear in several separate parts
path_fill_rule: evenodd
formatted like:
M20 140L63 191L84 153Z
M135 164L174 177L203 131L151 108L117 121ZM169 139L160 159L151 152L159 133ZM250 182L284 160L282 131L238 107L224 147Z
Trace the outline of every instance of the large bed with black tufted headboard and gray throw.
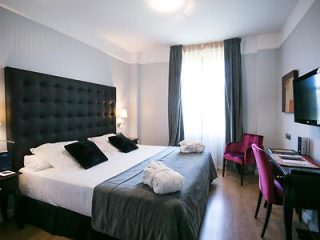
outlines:
M83 140L116 131L116 89L5 68L7 139L20 170L19 215L26 223L74 239L197 239L216 171L208 152L145 146L104 151L90 169L31 171L24 156L44 143ZM185 179L181 191L158 195L142 183L151 160ZM105 200L106 199L106 200Z

